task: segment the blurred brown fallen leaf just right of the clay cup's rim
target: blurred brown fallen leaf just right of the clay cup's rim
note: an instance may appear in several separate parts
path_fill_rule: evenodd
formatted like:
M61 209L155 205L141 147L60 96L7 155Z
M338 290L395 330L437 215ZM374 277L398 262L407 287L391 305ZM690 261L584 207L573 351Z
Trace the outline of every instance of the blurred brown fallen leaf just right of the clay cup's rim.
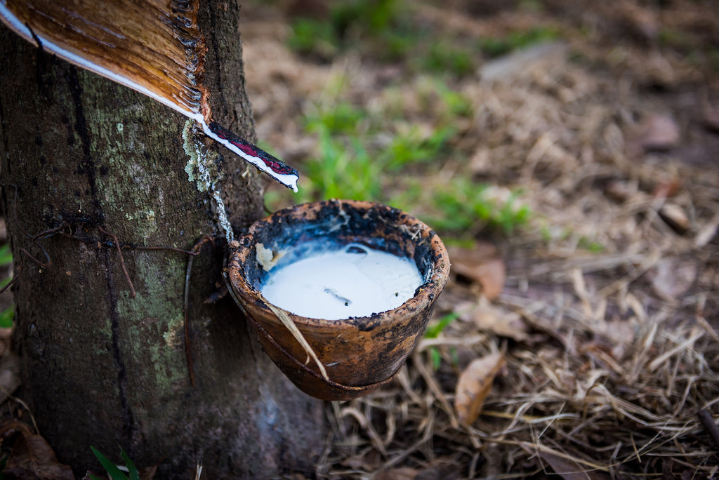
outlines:
M494 300L504 289L507 269L494 245L477 242L472 249L450 248L452 272L477 282L488 300Z

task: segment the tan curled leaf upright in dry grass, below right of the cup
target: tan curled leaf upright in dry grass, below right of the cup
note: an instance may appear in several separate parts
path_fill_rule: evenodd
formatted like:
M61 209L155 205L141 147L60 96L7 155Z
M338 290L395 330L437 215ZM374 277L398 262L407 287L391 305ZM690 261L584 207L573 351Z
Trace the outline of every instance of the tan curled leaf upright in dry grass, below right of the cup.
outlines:
M504 354L490 354L473 360L459 374L454 410L457 411L460 422L470 425L477 420L485 399L492 390L494 378L504 364Z

